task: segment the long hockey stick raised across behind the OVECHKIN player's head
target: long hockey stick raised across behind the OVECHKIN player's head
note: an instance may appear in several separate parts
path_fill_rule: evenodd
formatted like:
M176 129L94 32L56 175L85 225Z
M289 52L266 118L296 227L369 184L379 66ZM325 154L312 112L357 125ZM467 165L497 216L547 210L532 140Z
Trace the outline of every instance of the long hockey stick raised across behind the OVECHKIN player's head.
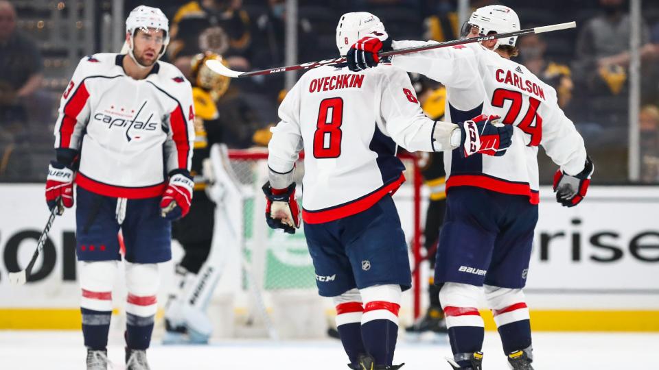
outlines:
M384 51L382 53L378 53L378 56L380 58L385 58L388 56L397 56L399 54L406 54L406 53L415 53L417 51L424 51L424 50L430 50L430 49L437 49L440 47L452 47L452 46L457 46L457 45L465 45L465 44L470 44L472 42L481 42L481 41L487 41L487 40L495 40L497 38L507 38L507 37L514 37L514 36L522 36L522 35L528 35L528 34L542 34L543 32L552 32L552 31L559 31L561 29L568 29L568 28L575 28L577 27L576 22L568 22L568 23L558 23L556 25L548 25L548 26L542 26L542 27L534 27L534 28L527 28L527 29L521 29L520 31L514 31L514 32L505 32L503 34L494 34L490 36L482 36L482 37L474 37L474 38L461 38L459 40L451 40L451 41L445 41L445 42L437 42L436 44L431 44L431 45L424 45L420 47L406 47L404 49L397 49L397 50L392 50L392 51ZM279 73L279 72L288 72L288 71L297 71L298 69L312 69L312 68L318 68L319 66L329 66L332 64L339 64L339 63L344 63L346 61L345 57L339 57L335 59L327 59L327 60L321 60L319 62L308 62L308 63L302 63L302 64L297 64L294 66L283 66L283 67L277 67L277 68L271 68L271 69L263 69L261 71L251 71L251 72L238 72L238 71L233 71L222 62L219 60L215 59L210 59L206 61L206 66L211 69L211 71L218 73L223 76L227 77L251 77L251 76L257 76L257 75L270 75L273 73Z

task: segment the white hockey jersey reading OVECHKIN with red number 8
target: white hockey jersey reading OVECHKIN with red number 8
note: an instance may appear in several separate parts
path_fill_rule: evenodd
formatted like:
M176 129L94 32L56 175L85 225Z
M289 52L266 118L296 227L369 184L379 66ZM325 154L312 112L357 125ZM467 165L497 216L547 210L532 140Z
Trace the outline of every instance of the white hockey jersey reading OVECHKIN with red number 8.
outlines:
M441 150L434 131L448 127L450 135L455 127L428 119L407 73L386 64L359 73L345 66L312 69L286 95L279 117L268 145L270 184L288 186L304 150L306 223L367 210L405 180L396 144L409 151Z

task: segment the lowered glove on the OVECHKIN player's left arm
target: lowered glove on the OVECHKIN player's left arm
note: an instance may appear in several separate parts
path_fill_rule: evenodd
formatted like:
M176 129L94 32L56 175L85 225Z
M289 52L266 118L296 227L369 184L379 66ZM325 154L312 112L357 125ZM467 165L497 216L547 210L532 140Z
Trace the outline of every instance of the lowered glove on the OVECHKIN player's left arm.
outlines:
M263 186L263 193L268 199L266 204L266 221L273 229L284 229L288 234L295 234L300 228L302 210L295 199L295 183L285 189L273 189L270 182Z

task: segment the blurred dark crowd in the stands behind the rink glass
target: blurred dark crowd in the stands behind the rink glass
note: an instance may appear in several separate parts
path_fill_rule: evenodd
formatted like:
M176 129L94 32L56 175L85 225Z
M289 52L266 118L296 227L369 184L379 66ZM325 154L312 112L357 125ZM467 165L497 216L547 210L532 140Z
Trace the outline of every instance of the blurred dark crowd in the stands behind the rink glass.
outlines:
M0 182L41 182L53 156L53 127L67 79L82 56L108 38L113 1L0 0ZM335 29L344 12L369 11L394 40L457 38L456 1L299 0L299 62L333 58ZM577 21L577 29L522 36L518 62L558 93L559 104L586 140L599 183L627 180L629 136L629 35L625 0L471 1L472 8L502 3L516 10L522 28ZM284 0L126 0L124 16L137 5L157 6L170 18L172 40L165 60L189 73L192 56L220 53L231 69L284 65ZM79 15L68 24L71 15ZM84 16L83 16L84 15ZM642 183L659 183L659 2L643 1L640 48L640 164ZM82 19L82 21L80 21ZM73 22L73 21L69 21ZM73 46L72 46L73 45ZM114 50L119 51L119 50ZM77 54L77 55L76 55ZM284 75L233 79L218 103L222 140L231 148L267 145L286 94ZM432 88L441 88L432 84ZM542 150L541 150L542 152ZM541 180L555 166L541 154Z

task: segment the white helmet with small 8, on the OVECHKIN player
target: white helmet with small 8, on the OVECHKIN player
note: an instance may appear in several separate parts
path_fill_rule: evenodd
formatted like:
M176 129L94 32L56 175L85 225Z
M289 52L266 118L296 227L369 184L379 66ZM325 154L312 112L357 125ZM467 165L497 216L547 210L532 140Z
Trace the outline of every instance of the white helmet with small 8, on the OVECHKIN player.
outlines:
M336 47L341 56L345 56L350 47L367 34L377 33L380 40L387 35L380 18L367 12L346 13L341 16L336 26Z

